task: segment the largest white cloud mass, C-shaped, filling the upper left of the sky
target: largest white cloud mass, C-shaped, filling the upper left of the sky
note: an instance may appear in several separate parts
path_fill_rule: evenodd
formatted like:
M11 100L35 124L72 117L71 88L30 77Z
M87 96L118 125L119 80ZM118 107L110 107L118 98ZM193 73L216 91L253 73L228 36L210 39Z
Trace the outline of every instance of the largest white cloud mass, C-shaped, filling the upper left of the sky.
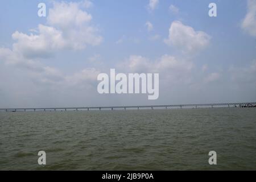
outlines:
M56 51L81 49L88 44L95 46L101 42L101 36L96 35L97 30L90 26L92 16L82 10L82 7L89 7L88 3L53 2L47 24L39 24L38 28L31 29L29 35L15 31L12 35L15 40L13 48L0 48L0 59L23 71L39 84L69 86L81 81L87 81L84 85L92 84L92 77L95 77L94 80L97 78L96 69L84 69L66 76L59 69L40 63L40 59Z

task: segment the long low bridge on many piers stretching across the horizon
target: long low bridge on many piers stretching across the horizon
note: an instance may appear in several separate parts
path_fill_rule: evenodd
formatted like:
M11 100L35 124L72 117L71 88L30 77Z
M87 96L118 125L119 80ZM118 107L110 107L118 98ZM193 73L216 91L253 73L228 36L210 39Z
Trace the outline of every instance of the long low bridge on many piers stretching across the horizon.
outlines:
M102 106L102 107L38 107L38 108L6 108L0 111L78 111L78 110L101 110L101 109L154 109L154 108L183 108L183 107L256 107L256 102L234 102L215 104L179 104L179 105L137 105L137 106Z

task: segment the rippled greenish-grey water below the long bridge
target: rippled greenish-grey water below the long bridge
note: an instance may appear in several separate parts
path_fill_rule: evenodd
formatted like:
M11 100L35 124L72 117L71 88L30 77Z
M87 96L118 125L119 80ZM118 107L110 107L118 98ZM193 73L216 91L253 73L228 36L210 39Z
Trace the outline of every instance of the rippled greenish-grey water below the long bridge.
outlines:
M0 112L0 125L2 170L256 169L255 108Z

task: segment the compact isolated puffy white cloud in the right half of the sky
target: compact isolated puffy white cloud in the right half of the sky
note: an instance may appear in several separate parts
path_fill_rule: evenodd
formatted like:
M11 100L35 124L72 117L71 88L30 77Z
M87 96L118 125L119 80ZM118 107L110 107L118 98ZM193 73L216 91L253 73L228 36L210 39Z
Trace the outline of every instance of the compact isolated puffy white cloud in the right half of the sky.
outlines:
M168 39L164 43L184 52L195 53L208 46L210 36L203 31L195 31L179 21L174 21L169 29Z

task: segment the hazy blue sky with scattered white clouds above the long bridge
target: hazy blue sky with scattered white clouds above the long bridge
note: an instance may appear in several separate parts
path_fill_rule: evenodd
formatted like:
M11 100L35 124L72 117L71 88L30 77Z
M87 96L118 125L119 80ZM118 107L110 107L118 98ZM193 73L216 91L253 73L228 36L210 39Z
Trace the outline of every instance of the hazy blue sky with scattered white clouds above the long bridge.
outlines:
M2 108L256 101L256 0L10 0L0 25ZM98 93L110 68L159 73L158 99Z

